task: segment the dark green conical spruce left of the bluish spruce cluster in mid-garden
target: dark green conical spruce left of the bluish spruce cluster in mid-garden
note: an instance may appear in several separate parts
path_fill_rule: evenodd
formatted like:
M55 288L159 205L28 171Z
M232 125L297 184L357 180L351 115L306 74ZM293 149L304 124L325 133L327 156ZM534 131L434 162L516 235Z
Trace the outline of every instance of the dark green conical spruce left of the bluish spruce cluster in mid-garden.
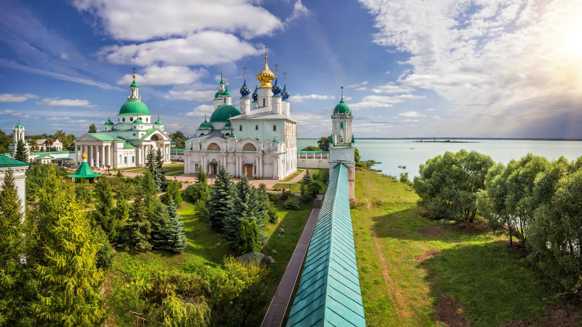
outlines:
M126 226L127 244L134 250L151 250L150 233L151 224L148 221L149 197L145 196L142 190L137 192L136 201L133 202L132 215L128 219Z

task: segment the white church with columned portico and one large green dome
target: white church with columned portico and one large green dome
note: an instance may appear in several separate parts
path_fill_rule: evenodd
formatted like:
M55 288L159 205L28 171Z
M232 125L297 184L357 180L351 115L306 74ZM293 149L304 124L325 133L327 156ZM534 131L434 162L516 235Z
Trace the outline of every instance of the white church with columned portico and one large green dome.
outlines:
M164 131L161 120L153 122L150 109L141 102L136 75L129 87L131 93L119 109L117 122L111 117L104 130L86 133L74 140L74 158L77 165L81 155L87 154L87 162L98 168L127 168L144 165L148 151L162 151L165 163L170 162L171 138Z

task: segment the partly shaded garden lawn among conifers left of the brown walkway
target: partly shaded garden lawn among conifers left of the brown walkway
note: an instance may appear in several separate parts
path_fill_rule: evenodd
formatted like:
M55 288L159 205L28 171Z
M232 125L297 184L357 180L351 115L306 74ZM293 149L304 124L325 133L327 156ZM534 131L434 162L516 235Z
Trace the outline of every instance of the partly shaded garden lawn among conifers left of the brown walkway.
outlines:
M268 253L275 259L275 263L269 267L269 300L263 311L266 312L271 298L279 285L279 280L303 228L311 213L311 208L300 211L289 211L278 205L279 222L268 223L265 229L265 235L268 237L267 244L261 250ZM150 251L145 253L128 253L118 251L113 258L113 267L108 273L105 281L105 289L109 290L106 294L111 294L111 288L118 285L117 276L123 276L136 269L184 269L186 271L199 271L222 269L222 262L225 255L235 255L228 247L228 243L222 234L214 232L204 218L193 214L193 204L184 197L182 206L179 209L184 222L184 232L188 239L188 246L180 254L171 254L164 251ZM277 237L279 228L285 229L285 239ZM276 250L277 254L271 254L271 250ZM115 278L113 277L115 276ZM112 299L113 300L113 299ZM118 326L130 326L128 317L115 317L115 312L111 312L110 321L115 321ZM135 323L133 323L134 325Z

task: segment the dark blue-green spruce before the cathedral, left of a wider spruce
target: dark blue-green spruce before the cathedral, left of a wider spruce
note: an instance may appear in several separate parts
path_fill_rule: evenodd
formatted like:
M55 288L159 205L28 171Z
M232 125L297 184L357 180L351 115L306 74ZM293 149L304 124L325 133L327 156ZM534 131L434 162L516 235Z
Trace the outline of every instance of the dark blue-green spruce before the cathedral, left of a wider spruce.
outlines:
M223 231L223 225L226 221L230 221L234 206L234 185L230 181L230 176L226 172L226 168L221 166L218 170L214 187L210 190L210 198L206 204L208 208L207 219L212 229L218 232Z

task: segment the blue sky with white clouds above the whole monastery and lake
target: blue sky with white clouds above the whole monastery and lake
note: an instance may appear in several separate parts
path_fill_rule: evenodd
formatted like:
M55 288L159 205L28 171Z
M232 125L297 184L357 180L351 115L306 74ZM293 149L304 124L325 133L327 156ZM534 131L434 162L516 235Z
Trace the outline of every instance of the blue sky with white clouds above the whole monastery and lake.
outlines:
M0 129L80 136L115 117L132 68L166 131L239 105L268 49L297 137L582 138L580 0L0 2ZM281 83L283 84L283 83Z

